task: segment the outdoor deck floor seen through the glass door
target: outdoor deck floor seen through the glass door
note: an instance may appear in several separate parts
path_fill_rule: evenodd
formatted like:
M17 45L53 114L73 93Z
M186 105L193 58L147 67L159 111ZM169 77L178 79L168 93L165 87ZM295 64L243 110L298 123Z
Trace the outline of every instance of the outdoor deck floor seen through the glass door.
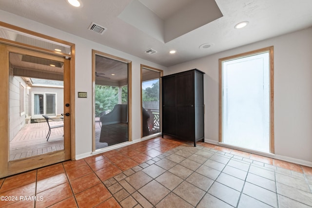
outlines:
M51 126L62 124L62 121L49 122ZM64 149L64 130L51 130L49 141L46 135L49 131L46 122L25 124L18 134L10 141L10 160L44 154Z

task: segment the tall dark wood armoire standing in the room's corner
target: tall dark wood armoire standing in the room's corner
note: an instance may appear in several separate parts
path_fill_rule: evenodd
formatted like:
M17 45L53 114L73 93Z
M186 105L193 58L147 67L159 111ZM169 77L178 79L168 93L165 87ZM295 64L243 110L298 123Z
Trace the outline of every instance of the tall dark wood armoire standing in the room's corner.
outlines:
M162 137L204 141L205 73L193 69L161 77Z

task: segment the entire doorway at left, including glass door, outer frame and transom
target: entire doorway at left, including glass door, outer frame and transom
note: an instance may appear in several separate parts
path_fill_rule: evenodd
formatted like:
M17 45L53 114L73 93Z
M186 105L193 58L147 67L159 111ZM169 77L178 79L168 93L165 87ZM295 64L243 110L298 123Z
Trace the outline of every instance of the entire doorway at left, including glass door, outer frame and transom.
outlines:
M75 45L4 22L0 31L0 177L75 159Z

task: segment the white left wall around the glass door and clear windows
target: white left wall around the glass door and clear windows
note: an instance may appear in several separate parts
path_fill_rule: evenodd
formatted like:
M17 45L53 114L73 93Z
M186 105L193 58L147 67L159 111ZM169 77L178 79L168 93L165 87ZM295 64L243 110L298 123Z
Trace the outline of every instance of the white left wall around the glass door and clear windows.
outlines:
M132 139L141 138L140 124L140 64L166 70L164 66L79 38L41 23L0 10L1 21L59 38L76 44L76 157L81 158L92 152L92 49L132 61ZM77 98L78 92L87 92L87 98Z

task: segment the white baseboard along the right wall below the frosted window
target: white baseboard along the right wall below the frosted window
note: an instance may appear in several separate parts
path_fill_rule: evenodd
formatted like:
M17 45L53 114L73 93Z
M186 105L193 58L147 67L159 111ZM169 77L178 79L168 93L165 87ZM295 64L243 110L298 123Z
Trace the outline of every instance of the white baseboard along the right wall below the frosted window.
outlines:
M271 157L273 159L283 160L283 161L287 161L287 162L290 162L290 163L295 163L295 164L299 164L299 165L303 165L303 166L312 167L312 162L311 161L307 161L307 160L301 160L301 159L288 157L288 156L283 156L283 155L279 155L279 154L272 154L272 153L267 153L267 152L248 150L248 149L245 149L245 148L239 148L239 147L235 147L235 146L232 146L232 145L227 145L227 144L224 144L224 143L220 143L218 141L211 140L211 139L205 139L205 142L210 143L210 144L214 144L214 145L219 145L219 146L222 146L222 147L235 149L235 150L246 151L246 152L253 153L253 154L258 154L258 155L262 155L262 156L266 156L266 157Z

